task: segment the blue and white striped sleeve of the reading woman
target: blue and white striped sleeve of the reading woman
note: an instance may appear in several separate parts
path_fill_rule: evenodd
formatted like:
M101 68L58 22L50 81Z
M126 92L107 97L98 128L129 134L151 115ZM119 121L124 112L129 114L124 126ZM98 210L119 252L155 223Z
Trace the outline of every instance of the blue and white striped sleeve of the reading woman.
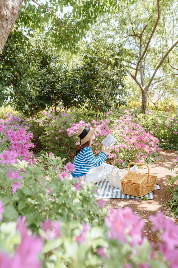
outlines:
M99 167L108 158L104 152L100 152L97 158L94 156L92 150L88 147L84 149L84 160L89 163L89 165L94 167Z

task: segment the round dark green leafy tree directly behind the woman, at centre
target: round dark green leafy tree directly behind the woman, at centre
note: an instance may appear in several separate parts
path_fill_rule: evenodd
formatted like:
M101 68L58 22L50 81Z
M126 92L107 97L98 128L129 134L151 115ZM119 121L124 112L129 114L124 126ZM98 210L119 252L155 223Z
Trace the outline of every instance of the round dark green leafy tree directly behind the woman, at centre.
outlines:
M86 109L106 113L112 107L118 108L126 102L122 99L127 93L123 78L125 71L121 47L89 46L78 66L74 67L75 90L78 99L88 102Z

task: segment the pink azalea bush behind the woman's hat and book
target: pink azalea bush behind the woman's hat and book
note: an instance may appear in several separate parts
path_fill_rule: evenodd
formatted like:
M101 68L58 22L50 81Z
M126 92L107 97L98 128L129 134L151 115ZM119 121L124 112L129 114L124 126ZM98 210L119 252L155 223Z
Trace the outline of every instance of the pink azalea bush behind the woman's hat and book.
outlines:
M112 147L113 150L108 155L106 162L119 167L126 167L128 163L133 161L137 163L151 163L160 159L159 140L152 134L147 133L142 126L133 123L132 118L126 110L125 115L119 119L111 118L104 121L92 121L92 124L80 121L77 124L73 123L72 127L68 128L67 134L74 136L81 125L95 125L95 140L93 141L93 152L97 155L101 151L101 141L108 134L112 134L117 143ZM75 134L76 140L77 135ZM79 143L76 143L79 144Z

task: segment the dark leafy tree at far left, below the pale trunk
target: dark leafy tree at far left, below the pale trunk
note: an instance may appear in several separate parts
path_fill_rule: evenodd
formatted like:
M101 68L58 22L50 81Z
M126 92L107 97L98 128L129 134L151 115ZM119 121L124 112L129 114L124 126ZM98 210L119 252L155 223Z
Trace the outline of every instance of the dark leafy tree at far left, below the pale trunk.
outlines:
M18 110L26 110L26 95L34 98L38 87L35 59L39 58L29 38L16 28L0 54L0 105L18 99ZM9 99L10 98L10 99Z

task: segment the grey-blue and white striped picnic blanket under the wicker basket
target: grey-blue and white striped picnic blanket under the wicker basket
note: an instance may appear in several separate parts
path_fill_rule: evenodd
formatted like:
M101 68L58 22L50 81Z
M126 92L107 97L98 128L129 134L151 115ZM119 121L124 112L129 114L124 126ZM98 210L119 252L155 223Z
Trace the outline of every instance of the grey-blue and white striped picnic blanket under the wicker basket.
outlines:
M122 199L142 199L142 197L136 197L132 195L125 195L122 193L122 190L114 186L109 185L108 180L102 180L96 183L98 186L97 198L122 198ZM161 187L159 184L156 184L156 190L159 190ZM153 199L155 197L154 192L148 193L146 196L148 199Z

